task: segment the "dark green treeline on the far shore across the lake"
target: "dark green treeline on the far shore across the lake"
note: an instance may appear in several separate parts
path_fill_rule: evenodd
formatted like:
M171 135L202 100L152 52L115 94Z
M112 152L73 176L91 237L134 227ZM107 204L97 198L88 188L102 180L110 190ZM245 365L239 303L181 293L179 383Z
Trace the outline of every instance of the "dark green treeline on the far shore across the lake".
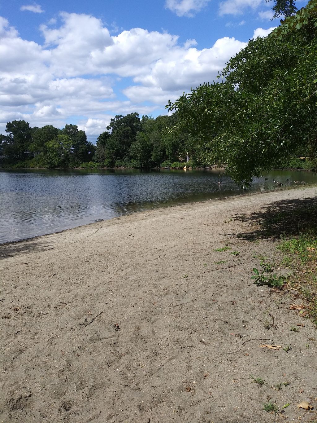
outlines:
M139 118L138 113L117 115L97 145L87 141L77 125L30 128L25 121L8 122L0 135L2 165L14 168L157 168L200 166L201 151L186 132L165 130L177 121L170 116ZM195 147L196 146L196 147Z

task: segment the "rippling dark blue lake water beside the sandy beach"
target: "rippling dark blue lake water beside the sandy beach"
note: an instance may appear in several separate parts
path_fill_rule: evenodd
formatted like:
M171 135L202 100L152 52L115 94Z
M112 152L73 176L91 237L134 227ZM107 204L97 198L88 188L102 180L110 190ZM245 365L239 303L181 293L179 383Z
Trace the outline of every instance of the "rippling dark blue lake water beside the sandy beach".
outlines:
M0 171L0 243L161 206L271 191L274 179L284 184L281 189L292 188L287 179L317 183L304 171L276 170L266 177L243 191L219 170Z

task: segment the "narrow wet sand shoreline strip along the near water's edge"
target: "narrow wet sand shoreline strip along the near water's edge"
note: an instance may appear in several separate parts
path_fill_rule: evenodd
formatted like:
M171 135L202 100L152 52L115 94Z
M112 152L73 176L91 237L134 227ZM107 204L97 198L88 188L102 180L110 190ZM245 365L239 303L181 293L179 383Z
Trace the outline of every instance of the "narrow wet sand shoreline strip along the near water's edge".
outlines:
M317 187L317 184L309 184L309 187ZM293 187L283 187L283 188L279 188L279 192L282 192L286 189L290 189L292 188L292 190L304 190L306 188L309 188L303 185L295 185ZM9 245L9 244L16 244L16 243L21 243L21 242L27 242L33 239L38 239L41 238L43 236L49 236L49 235L55 235L55 234L59 234L59 233L63 233L66 231L71 231L77 228L84 228L90 225L95 225L98 223L103 223L103 222L108 222L111 220L115 220L118 219L120 217L124 217L124 216L134 216L135 214L142 214L142 213L147 213L149 211L154 211L154 210L161 210L161 209L172 209L175 207L183 207L183 206L187 206L187 205L195 205L195 204L199 204L199 203L208 203L208 202L213 202L213 201L227 201L230 199L234 199L234 198L244 198L246 196L254 196L254 195L265 195L265 194L269 194L272 192L276 192L275 190L270 190L270 191L265 191L265 192L245 192L245 193L241 193L238 195L228 195L228 197L221 197L221 198L210 198L208 200L201 200L201 201L193 201L193 202L186 202L186 203L181 203L181 204L177 204L177 205L173 205L173 206L160 206L160 207L155 207L153 209L147 209L147 210L142 210L142 211L134 211L128 214L122 214L121 216L116 216L116 217L110 217L109 219L102 219L102 220L98 220L96 222L90 222L90 223L86 223L85 225L78 225L78 226L74 226L73 228L66 228L66 229L62 229L61 231L55 231L55 232L49 232L49 233L44 233L42 235L36 235L36 236L30 236L28 238L23 238L23 239L18 239L16 241L7 241L7 242L0 242L0 253L1 253L1 247L5 246L5 245Z

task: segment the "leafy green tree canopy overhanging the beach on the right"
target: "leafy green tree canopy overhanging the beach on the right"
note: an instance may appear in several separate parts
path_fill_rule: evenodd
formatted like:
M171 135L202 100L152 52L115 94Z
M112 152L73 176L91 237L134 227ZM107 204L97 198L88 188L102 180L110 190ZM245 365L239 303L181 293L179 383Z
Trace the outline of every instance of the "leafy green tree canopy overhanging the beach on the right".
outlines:
M293 6L281 0L275 7L291 13ZM179 118L170 131L189 132L202 161L225 164L241 185L298 152L316 160L316 31L317 2L311 0L266 38L250 40L219 81L169 102Z

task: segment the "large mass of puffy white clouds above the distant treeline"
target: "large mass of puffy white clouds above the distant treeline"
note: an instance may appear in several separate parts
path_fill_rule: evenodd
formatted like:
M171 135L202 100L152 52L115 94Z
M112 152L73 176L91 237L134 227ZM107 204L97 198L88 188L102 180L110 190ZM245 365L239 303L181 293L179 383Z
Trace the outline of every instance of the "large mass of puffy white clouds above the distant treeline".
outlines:
M212 82L246 44L224 37L200 50L195 40L180 44L175 35L142 28L111 36L84 14L62 13L41 31L43 45L22 39L0 17L0 133L14 119L31 126L71 120L96 137L115 114L150 114Z

